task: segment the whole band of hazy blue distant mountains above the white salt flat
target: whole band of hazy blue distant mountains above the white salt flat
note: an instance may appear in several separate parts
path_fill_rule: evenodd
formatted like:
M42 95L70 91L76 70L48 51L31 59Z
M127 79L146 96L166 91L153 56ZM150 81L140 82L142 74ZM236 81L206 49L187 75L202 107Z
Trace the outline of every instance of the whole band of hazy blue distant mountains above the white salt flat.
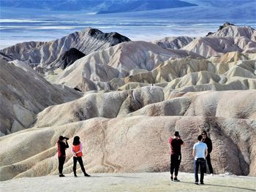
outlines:
M54 3L53 3L54 2ZM68 18L84 20L86 14L118 18L167 20L234 20L256 18L255 1L251 0L1 0L4 18ZM28 11L31 10L31 11ZM96 14L96 15L95 15ZM74 16L73 16L74 15Z

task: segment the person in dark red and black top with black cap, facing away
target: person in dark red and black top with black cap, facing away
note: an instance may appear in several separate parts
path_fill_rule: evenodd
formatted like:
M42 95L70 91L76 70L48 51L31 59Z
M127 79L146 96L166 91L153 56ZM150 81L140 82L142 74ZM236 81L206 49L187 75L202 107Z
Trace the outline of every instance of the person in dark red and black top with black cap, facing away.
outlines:
M174 137L170 137L170 180L178 180L178 169L181 164L181 145L184 145L184 142L181 139L181 136L178 134L178 131L175 131ZM173 172L174 179L173 179Z

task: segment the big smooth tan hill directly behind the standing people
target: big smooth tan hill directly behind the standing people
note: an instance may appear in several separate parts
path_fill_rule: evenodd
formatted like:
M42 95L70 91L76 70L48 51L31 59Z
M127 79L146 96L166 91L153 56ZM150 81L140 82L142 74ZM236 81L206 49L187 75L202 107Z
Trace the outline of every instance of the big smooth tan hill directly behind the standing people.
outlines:
M64 126L31 128L1 137L0 144L5 147L0 152L0 180L57 174L56 142L60 134L70 140L75 135L80 136L86 154L83 161L89 173L167 172L170 168L168 138L179 131L186 142L181 152L181 171L194 172L192 146L203 129L213 141L211 159L215 173L255 175L255 120L135 116L93 118ZM72 154L67 150L64 173L70 172Z

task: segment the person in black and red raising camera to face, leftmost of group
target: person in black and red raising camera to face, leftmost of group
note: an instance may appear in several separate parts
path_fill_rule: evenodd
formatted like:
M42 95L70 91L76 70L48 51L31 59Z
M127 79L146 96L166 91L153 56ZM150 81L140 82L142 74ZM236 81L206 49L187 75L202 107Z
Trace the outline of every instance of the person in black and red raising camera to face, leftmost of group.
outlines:
M57 142L58 145L58 158L59 158L59 177L65 177L64 174L62 174L63 165L66 159L66 149L69 147L69 144L67 143L67 137L60 136L59 140Z

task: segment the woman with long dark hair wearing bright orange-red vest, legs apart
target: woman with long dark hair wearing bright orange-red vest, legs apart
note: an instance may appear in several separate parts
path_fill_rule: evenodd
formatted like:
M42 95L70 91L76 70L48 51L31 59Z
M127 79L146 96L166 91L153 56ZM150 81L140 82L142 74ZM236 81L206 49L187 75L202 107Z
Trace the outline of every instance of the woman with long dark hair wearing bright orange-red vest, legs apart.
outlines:
M84 176L85 177L90 177L90 175L86 173L86 169L84 169L84 166L83 166L82 149L83 149L83 147L82 147L82 143L80 142L80 137L75 136L74 140L73 140L73 146L72 146L73 172L74 172L75 177L78 177L77 174L76 174L76 166L77 166L77 161L78 161L79 164L80 164L80 167L83 171Z

